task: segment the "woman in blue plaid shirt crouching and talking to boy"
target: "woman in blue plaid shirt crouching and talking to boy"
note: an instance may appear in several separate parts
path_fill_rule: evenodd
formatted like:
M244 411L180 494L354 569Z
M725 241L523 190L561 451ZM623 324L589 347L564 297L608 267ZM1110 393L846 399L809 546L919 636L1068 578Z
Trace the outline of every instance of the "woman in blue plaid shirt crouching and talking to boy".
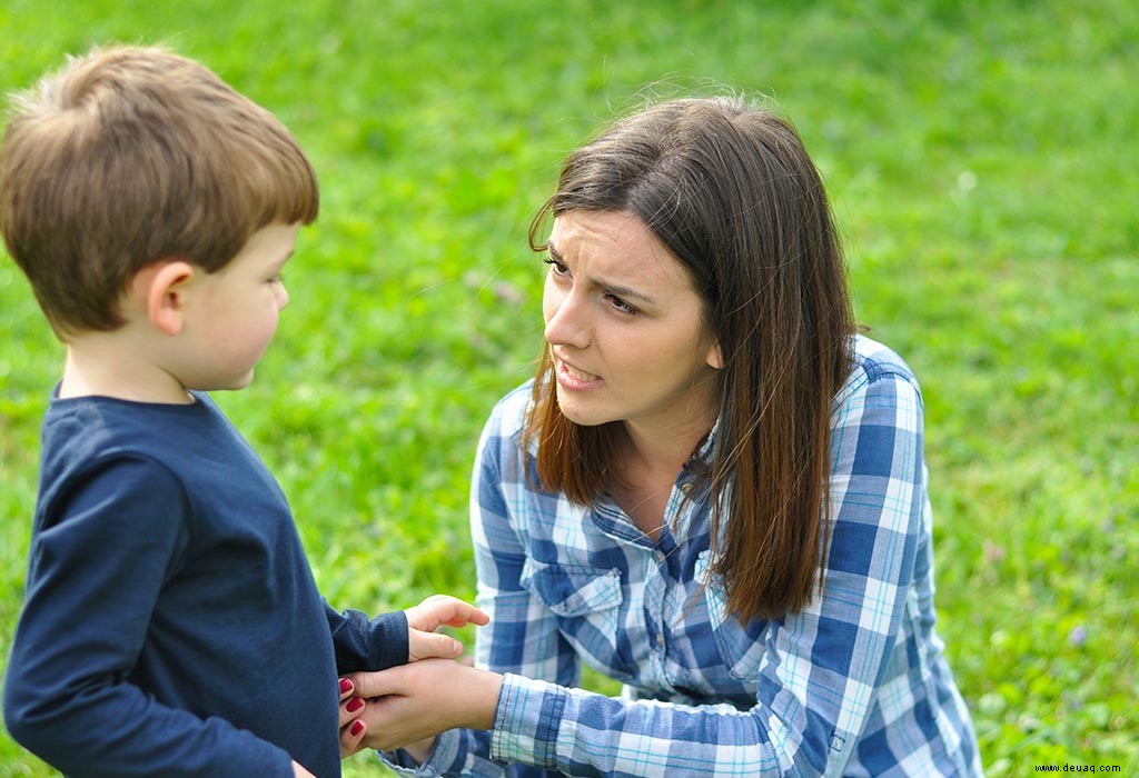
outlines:
M480 444L478 669L357 677L369 744L448 775L980 775L921 397L855 334L795 131L650 108L571 155L531 243L548 345Z

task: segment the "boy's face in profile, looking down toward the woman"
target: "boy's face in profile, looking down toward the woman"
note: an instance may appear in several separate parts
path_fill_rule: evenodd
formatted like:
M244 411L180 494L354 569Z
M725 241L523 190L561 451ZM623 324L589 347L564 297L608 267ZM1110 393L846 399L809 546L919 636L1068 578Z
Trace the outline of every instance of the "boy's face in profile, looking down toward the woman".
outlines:
M265 353L278 314L288 305L281 270L293 254L300 224L257 230L226 267L202 273L187 311L194 358L183 363L187 389L241 389Z

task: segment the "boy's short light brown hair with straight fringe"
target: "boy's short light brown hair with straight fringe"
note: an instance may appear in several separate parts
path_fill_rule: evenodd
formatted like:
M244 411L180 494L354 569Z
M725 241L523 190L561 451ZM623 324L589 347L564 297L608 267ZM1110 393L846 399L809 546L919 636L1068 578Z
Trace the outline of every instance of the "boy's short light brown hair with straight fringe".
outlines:
M121 326L147 265L213 273L259 229L309 224L318 207L280 121L165 49L96 49L14 97L0 233L60 337Z

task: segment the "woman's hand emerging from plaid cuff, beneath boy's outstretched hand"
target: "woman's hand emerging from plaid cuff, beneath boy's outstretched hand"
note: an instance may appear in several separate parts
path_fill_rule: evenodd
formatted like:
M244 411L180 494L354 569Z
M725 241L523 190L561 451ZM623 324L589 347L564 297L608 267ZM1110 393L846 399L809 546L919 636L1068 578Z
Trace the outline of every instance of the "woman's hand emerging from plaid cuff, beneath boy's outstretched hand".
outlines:
M357 721L364 723L358 746L392 751L415 745L417 758L426 755L434 736L448 729L493 727L502 689L497 672L440 659L357 672L347 679L354 694L368 701L358 712Z

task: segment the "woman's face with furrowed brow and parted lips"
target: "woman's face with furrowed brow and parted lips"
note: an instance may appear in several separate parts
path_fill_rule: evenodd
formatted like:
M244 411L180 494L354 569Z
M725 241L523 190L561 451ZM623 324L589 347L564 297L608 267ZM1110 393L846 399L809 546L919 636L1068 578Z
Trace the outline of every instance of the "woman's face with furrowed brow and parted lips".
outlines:
M562 412L650 430L715 419L719 348L688 271L628 212L554 221L542 309Z

